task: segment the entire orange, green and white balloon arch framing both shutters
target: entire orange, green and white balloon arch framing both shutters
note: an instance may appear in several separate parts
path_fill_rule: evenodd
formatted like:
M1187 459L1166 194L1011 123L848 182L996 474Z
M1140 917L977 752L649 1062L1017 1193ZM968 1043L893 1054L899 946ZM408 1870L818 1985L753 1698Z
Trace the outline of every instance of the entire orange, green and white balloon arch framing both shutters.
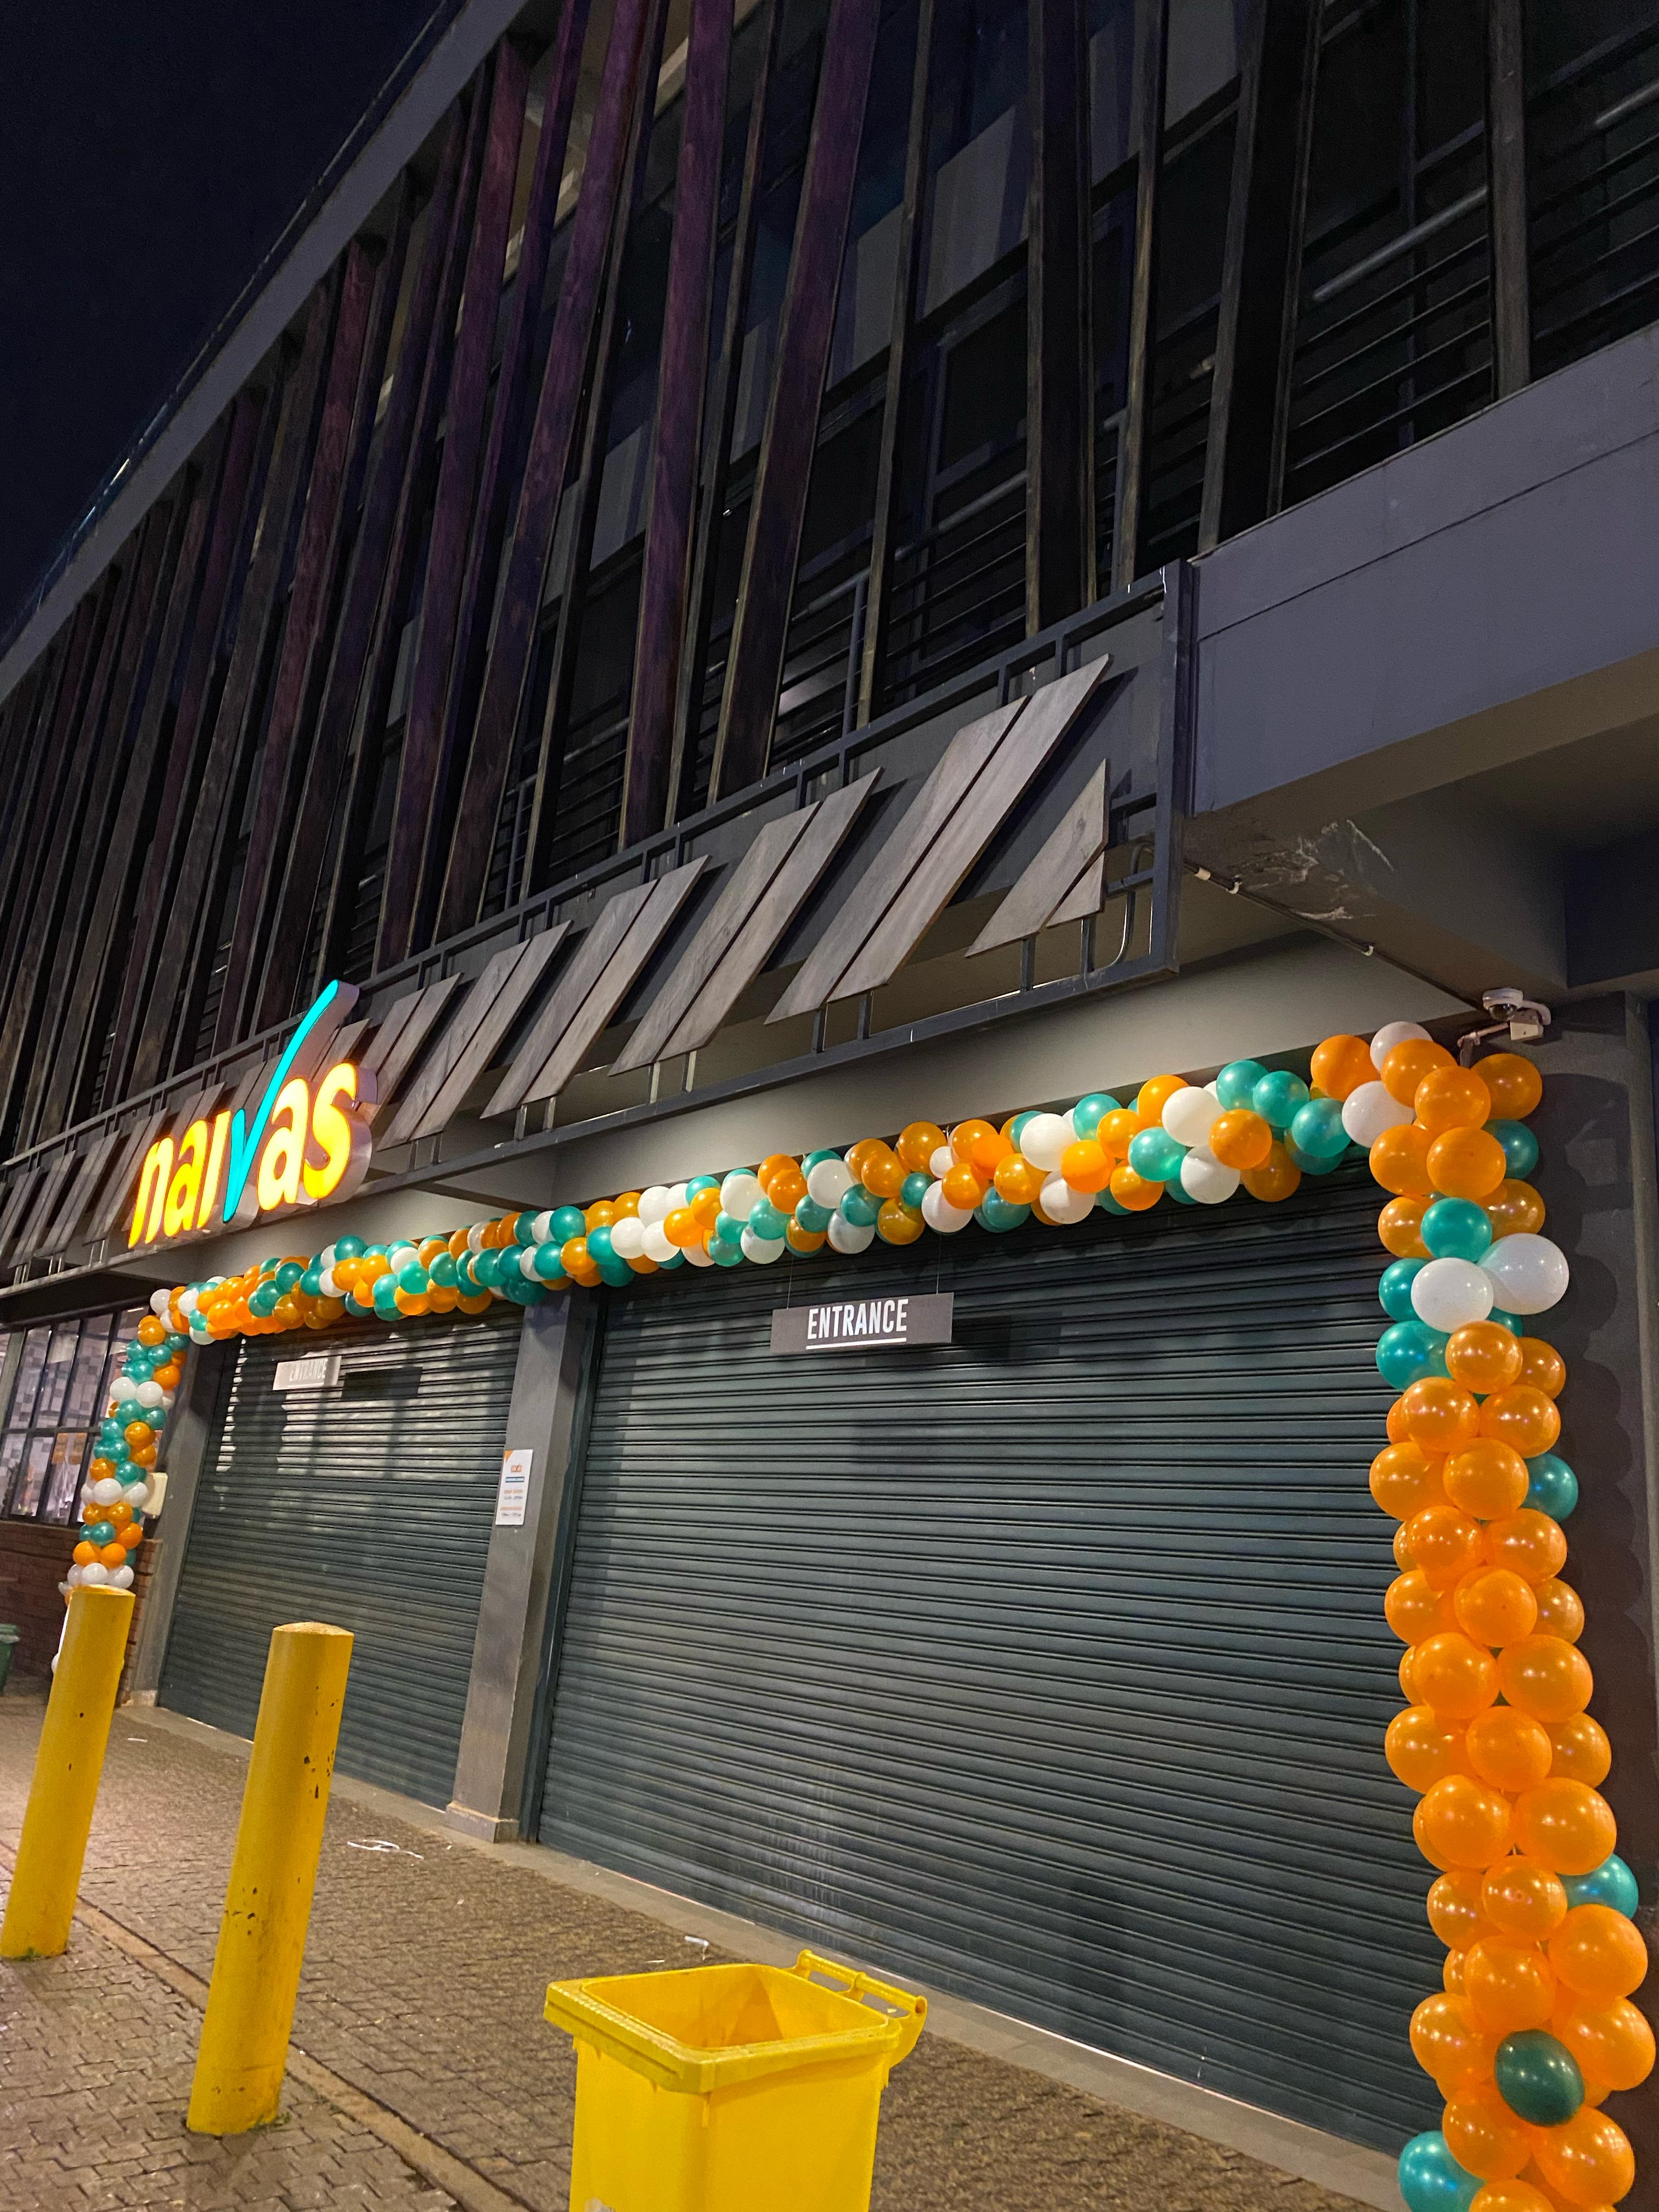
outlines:
M1071 1113L949 1135L911 1121L845 1155L774 1152L398 1245L338 1237L310 1259L161 1290L97 1436L69 1579L131 1586L192 1343L347 1314L482 1314L568 1283L622 1290L668 1267L856 1254L876 1237L1004 1232L1033 1214L1064 1228L1097 1208L1221 1206L1239 1190L1274 1203L1363 1146L1389 1192L1376 1363L1398 1391L1371 1462L1371 1495L1398 1522L1383 1610L1405 1646L1385 1756L1418 1796L1413 1836L1438 1869L1429 1922L1447 1944L1444 1989L1411 2017L1444 2110L1400 2154L1400 2190L1409 2212L1610 2205L1635 2185L1635 2157L1601 2104L1648 2077L1655 2037L1630 2002L1648 1953L1597 1787L1613 1750L1588 1714L1584 1606L1562 1582L1579 1495L1555 1451L1566 1363L1531 1334L1568 1287L1526 1179L1544 1084L1517 1053L1464 1068L1413 1022L1327 1037L1310 1075L1237 1060L1212 1084L1155 1075L1130 1104L1093 1093Z

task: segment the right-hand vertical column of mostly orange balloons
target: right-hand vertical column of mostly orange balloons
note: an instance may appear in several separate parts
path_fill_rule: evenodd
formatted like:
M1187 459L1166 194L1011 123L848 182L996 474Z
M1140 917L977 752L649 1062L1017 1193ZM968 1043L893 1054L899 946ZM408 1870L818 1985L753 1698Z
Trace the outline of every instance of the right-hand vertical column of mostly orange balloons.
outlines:
M1644 2081L1655 2037L1637 1885L1599 1794L1613 1750L1588 1714L1584 1606L1562 1582L1577 1475L1555 1451L1566 1363L1533 1316L1566 1292L1526 1181L1537 1068L1462 1068L1413 1022L1327 1037L1314 1082L1389 1192L1376 1347L1398 1391L1371 1495L1398 1522L1385 1613L1405 1644L1394 1774L1438 1869L1444 1989L1411 2048L1444 2112L1400 2157L1411 2212L1606 2208L1635 2183L1601 2104Z

